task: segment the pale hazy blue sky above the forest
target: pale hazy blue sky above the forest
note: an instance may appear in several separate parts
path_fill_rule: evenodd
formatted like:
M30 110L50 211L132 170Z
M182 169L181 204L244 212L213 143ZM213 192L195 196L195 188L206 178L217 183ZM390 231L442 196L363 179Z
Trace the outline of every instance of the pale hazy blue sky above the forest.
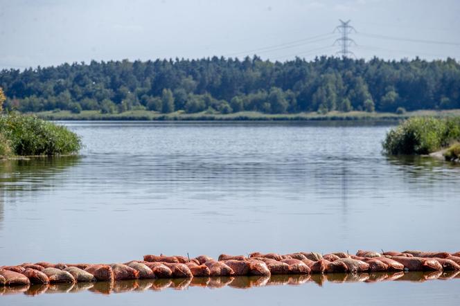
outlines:
M459 0L0 0L0 69L91 60L460 59ZM334 33L335 30L335 33ZM335 43L335 45L334 45Z

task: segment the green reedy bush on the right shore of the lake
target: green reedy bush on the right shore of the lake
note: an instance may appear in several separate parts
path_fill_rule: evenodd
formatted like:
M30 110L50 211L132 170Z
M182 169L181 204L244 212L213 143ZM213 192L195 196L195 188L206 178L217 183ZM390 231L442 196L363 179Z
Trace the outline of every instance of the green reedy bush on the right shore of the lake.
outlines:
M387 154L428 154L460 140L460 118L409 118L382 143Z

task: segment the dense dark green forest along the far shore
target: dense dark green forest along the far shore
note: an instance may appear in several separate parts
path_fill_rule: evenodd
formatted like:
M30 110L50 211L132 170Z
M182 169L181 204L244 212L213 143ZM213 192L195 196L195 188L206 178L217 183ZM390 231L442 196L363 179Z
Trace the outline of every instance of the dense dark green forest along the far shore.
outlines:
M7 96L5 108L23 112L400 112L460 108L460 63L450 58L397 62L339 57L270 62L257 56L91 61L4 69L0 87Z

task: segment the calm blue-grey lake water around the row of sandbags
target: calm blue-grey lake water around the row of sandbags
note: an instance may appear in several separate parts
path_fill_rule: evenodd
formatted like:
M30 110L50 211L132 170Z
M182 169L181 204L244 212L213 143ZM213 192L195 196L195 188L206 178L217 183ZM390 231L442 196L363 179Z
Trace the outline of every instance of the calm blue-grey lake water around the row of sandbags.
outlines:
M460 250L460 167L383 156L389 125L65 124L82 136L82 156L0 163L1 264L123 262L147 253ZM460 281L327 284L37 299L428 305L454 303ZM24 296L8 298L37 302Z

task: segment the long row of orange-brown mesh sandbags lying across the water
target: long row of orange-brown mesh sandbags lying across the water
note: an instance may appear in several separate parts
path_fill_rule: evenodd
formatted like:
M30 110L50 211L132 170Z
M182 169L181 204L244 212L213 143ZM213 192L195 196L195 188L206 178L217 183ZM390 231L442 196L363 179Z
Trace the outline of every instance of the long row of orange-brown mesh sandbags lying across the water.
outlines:
M221 254L218 260L206 255L145 255L125 264L24 263L0 267L0 285L28 285L60 282L134 280L138 278L193 278L205 276L271 276L308 273L360 273L377 271L460 270L460 253L382 252L348 253L251 253Z

